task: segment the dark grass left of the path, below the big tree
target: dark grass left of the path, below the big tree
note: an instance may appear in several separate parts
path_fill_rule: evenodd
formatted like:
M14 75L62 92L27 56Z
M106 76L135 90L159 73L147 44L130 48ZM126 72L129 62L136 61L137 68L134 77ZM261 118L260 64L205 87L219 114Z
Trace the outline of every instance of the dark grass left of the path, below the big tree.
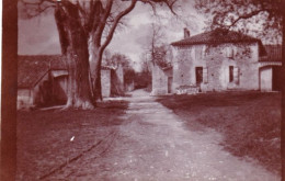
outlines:
M19 111L18 180L37 180L116 132L126 108L127 102L109 101L93 111Z

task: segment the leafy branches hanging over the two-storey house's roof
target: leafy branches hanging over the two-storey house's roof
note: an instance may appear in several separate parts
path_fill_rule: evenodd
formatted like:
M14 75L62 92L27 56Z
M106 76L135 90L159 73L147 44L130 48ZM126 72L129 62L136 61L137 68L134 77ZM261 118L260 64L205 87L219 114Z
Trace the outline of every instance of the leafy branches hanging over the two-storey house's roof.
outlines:
M239 30L275 42L282 35L282 0L196 0L195 8L212 15L209 29Z

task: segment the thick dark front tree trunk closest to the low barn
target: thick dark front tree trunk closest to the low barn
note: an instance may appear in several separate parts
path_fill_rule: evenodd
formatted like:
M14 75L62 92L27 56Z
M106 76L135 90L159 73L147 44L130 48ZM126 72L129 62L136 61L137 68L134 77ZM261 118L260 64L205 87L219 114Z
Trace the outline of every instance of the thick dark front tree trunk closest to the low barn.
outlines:
M95 101L90 83L88 36L80 24L78 9L70 3L65 5L65 10L56 10L55 16L69 73L66 109L93 109Z

